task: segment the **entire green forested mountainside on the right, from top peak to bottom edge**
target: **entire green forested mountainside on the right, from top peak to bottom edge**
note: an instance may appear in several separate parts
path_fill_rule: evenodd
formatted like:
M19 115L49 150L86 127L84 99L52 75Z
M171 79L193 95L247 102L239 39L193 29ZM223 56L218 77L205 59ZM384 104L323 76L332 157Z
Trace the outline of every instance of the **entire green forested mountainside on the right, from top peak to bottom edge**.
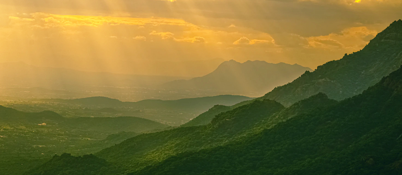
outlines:
M400 175L401 41L396 21L362 51L272 91L287 93L277 93L287 108L267 94L207 125L141 134L96 157L55 156L26 175Z

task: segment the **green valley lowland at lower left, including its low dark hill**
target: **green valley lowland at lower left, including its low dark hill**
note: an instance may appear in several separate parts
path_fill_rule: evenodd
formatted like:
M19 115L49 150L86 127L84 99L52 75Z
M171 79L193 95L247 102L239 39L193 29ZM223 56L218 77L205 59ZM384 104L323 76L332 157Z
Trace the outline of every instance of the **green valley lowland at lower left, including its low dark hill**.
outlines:
M54 154L98 152L137 133L166 127L138 117L65 118L52 111L25 113L0 106L0 171L21 174Z

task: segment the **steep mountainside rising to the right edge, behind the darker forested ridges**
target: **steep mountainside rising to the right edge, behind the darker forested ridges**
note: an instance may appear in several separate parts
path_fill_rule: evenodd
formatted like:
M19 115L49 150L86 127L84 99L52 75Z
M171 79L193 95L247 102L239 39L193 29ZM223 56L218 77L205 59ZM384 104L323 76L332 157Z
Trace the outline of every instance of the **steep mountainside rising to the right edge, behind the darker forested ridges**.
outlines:
M273 89L260 99L273 99L290 106L322 92L330 99L343 100L360 94L401 64L402 21L399 20L378 33L361 51L318 66L314 72L306 71L293 82Z

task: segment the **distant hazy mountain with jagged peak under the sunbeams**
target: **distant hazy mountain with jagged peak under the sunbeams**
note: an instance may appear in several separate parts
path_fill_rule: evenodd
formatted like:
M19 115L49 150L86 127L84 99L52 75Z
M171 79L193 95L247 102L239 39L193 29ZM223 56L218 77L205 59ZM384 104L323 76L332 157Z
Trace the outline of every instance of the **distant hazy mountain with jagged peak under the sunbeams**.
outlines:
M239 63L230 60L223 62L210 74L191 80L174 80L165 83L163 87L260 94L291 82L306 71L311 71L311 69L297 64L272 64L265 61Z

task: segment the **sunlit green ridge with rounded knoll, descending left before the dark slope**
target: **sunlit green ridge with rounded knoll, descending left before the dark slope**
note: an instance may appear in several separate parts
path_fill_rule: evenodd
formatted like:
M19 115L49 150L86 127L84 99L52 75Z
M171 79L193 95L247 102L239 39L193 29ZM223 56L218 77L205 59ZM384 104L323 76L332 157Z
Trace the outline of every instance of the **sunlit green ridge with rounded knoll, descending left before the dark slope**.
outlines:
M256 122L283 108L275 101L255 101L218 114L207 126L180 127L142 134L104 149L96 153L96 156L114 162L136 160L137 164L144 161L155 163L176 153L222 145L232 136L250 129Z

